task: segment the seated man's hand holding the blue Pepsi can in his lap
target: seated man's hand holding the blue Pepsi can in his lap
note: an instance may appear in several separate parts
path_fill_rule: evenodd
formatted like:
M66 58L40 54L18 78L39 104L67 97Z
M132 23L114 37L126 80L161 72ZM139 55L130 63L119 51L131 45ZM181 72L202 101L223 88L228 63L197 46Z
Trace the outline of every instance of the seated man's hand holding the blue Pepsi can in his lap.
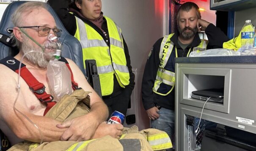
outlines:
M101 138L106 135L110 135L111 137L119 139L122 135L123 129L124 126L122 124L107 124L106 122L102 122L96 129L96 132L92 139Z

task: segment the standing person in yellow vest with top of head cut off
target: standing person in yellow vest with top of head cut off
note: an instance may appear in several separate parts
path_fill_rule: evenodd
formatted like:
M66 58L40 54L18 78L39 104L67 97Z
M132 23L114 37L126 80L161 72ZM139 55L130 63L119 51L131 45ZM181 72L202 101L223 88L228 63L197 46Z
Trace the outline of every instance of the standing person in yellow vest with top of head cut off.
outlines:
M68 32L80 41L83 60L96 60L102 98L110 114L117 110L126 115L135 75L121 28L103 16L101 0L48 0L47 3Z

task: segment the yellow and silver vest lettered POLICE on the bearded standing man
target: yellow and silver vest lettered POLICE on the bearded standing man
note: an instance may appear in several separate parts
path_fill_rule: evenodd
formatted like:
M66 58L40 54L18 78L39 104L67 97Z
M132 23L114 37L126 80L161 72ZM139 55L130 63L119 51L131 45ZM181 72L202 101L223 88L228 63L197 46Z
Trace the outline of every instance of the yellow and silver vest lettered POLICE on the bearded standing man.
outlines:
M174 59L175 57L178 57L177 54L177 48L175 47L175 52L172 52L174 44L171 41L171 37L174 33L167 35L163 38L160 52L159 52L159 58L160 58L160 64L159 68L157 70L157 77L154 82L153 92L157 93L162 96L166 96L174 88L175 85L175 69L170 66L166 66L169 59ZM193 48L193 51L204 51L206 50L207 44L208 44L208 38L205 33L199 33L199 37L201 39L201 43ZM190 54L190 50L187 53L187 57ZM175 54L174 54L175 53ZM167 68L168 69L167 69Z

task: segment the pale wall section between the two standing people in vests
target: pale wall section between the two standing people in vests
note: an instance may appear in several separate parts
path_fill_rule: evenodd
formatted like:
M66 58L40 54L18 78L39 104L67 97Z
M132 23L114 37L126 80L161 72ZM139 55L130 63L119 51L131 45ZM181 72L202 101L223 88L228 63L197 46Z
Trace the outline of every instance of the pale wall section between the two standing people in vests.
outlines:
M132 68L137 69L136 123L139 129L149 128L141 101L141 81L151 47L168 34L168 0L102 0L102 11L122 29Z

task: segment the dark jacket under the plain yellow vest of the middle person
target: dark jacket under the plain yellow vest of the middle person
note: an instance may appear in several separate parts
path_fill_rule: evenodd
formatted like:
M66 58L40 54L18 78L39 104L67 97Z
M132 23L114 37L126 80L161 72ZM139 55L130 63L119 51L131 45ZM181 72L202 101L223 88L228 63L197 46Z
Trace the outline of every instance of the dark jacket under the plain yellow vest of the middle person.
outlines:
M106 32L107 36L105 36L105 34L102 32L101 29L99 29L99 27L94 25L94 23L92 23L88 19L81 17L80 15L78 15L76 13L70 14L69 13L69 1L70 0L48 0L47 3L49 3L50 6L55 10L55 12L58 14L59 18L61 19L61 22L65 26L66 30L71 35L74 36L74 34L77 30L77 24L76 24L76 19L75 19L75 16L77 16L78 18L80 18L84 22L86 22L88 25L93 27L102 36L102 38L105 40L107 45L110 47L110 43L109 43L110 40L109 40L109 36L108 36L106 19L103 17L102 30L104 30ZM131 60L130 60L127 44L124 41L123 36L122 36L122 38L123 38L123 43L124 43L124 54L125 54L125 58L127 61L127 67L129 69L129 75L130 75L130 79L129 79L130 83L129 83L129 85L127 85L126 88L129 88L130 91L132 91L134 88L134 85L135 85L135 82L134 82L135 75L132 73ZM103 96L103 98L117 96L118 94L121 93L122 90L123 90L123 88L121 88L121 86L118 84L118 81L116 80L116 76L114 76L113 93L110 96Z

